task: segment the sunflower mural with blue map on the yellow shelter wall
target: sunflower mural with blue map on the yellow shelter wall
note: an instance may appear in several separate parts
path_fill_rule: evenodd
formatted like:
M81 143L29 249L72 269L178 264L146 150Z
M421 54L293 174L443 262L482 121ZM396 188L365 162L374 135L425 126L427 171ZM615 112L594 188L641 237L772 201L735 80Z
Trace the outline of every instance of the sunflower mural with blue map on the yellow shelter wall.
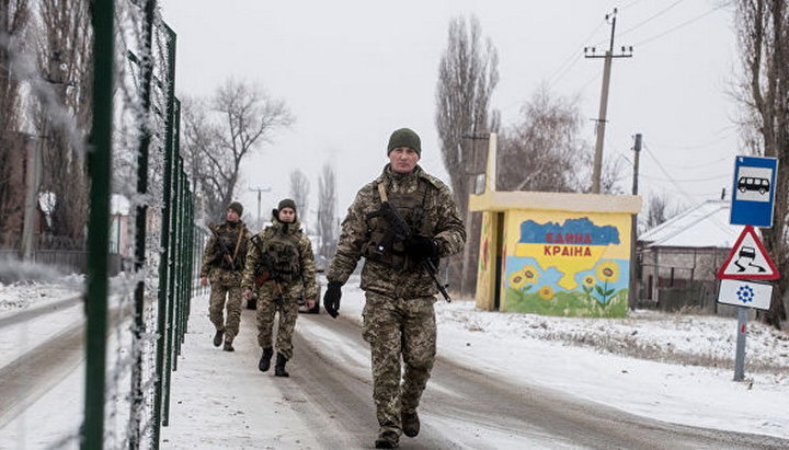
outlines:
M512 211L504 309L548 315L624 318L630 217ZM517 230L517 232L516 232Z

